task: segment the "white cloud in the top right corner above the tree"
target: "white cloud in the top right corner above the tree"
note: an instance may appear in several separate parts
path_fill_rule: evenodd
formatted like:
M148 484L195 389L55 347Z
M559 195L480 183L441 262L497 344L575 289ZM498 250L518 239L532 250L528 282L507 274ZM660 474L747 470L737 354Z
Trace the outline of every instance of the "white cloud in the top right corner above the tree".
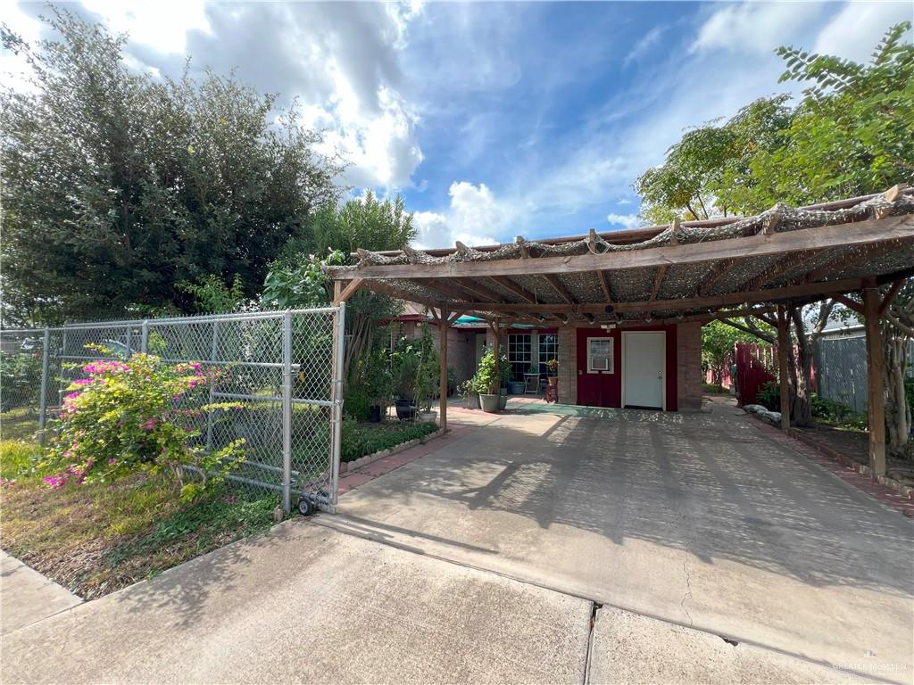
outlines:
M911 6L909 2L847 3L819 33L814 51L866 63L889 26L911 20ZM907 40L911 40L910 31Z

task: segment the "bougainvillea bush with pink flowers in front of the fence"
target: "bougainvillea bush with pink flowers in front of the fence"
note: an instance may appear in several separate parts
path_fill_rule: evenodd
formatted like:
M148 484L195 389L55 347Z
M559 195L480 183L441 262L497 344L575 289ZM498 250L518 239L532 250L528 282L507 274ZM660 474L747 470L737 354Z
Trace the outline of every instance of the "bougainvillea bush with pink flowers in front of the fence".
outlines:
M181 499L192 500L243 461L243 439L211 452L195 444L207 415L218 422L239 408L238 403L207 403L209 384L224 370L164 364L143 353L126 361L98 360L81 370L84 377L67 388L42 465L52 473L44 478L48 486L145 471L173 479Z

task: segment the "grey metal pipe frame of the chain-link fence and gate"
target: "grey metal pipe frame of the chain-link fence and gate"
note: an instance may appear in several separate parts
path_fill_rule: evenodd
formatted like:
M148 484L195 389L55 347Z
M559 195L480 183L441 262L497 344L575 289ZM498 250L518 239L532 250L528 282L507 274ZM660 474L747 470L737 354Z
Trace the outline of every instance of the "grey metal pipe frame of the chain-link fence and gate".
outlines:
M314 399L292 396L292 383L296 372L299 371L300 364L292 363L292 328L294 317L307 316L314 314L332 314L332 350L331 350L331 369L330 369L330 399ZM223 322L238 321L258 321L258 320L282 320L282 361L275 364L264 364L262 362L218 362L215 359L218 345L218 324ZM306 499L312 506L316 506L323 511L335 512L339 491L339 472L340 457L342 451L342 425L343 425L343 354L345 347L345 302L341 302L331 307L320 307L314 309L298 309L285 311L254 311L235 314L206 314L201 316L190 317L171 317L163 319L143 319L133 321L84 321L68 323L63 326L45 327L44 329L4 329L4 333L14 334L34 334L43 335L43 351L41 361L41 388L38 398L37 407L37 425L38 440L43 446L45 442L46 427L48 425L48 390L50 388L50 359L53 357L61 362L80 361L86 357L77 357L67 355L66 336L67 332L91 329L108 329L122 330L127 341L128 351L131 348L131 336L135 329L140 330L140 351L147 353L149 349L149 332L150 328L154 330L157 326L162 325L187 325L187 324L209 323L213 328L213 353L210 354L212 359L190 360L190 359L173 359L163 357L163 361L168 364L186 363L186 362L203 362L211 364L238 364L240 366L279 366L282 368L282 395L281 397L265 395L243 395L236 393L219 393L214 386L210 386L209 401L218 400L244 400L248 402L261 401L281 401L282 402L282 485L277 486L273 483L259 482L254 479L247 479L237 475L228 475L228 479L243 482L250 486L260 486L271 490L280 490L282 492L282 509L289 513L292 509L292 406L295 404L304 404L312 406L328 407L330 409L329 434L330 434L330 452L328 454L327 469L328 490L317 492L305 492L296 490L301 498ZM64 341L63 347L51 353L51 333L61 333ZM62 389L60 390L62 395ZM211 416L207 418L207 446L212 445L212 423ZM275 469L275 467L263 468ZM278 470L278 469L277 469Z

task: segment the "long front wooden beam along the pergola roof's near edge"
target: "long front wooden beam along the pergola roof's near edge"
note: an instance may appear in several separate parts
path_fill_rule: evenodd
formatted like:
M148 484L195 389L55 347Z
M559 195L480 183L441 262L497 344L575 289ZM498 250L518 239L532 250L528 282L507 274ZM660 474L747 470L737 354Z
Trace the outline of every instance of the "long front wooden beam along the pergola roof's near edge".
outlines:
M662 264L695 264L720 259L782 255L810 249L867 246L914 238L914 215L866 219L850 224L804 228L766 235L667 245L658 248L584 254L570 257L491 259L437 264L385 264L362 267L359 278L431 279L582 273L596 270L643 269ZM333 273L333 271L331 271ZM345 274L345 271L336 271ZM356 274L348 272L352 277Z

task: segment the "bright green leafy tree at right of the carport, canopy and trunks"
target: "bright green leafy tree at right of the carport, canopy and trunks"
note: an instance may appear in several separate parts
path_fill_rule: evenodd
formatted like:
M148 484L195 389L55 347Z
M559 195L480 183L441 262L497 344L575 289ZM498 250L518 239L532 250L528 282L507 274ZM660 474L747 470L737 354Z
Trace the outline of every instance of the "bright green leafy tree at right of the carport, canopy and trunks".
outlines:
M686 132L664 163L636 182L646 218L757 214L777 202L812 204L886 190L914 177L914 46L905 22L888 29L866 64L780 47L781 81L808 83L802 99L756 100L723 124ZM906 288L903 292L907 292ZM826 300L792 315L792 420L812 420L813 345L833 311ZM890 436L907 439L904 342L909 300L898 299L885 327ZM894 322L893 322L894 321ZM900 351L900 352L899 352ZM899 369L901 371L899 372ZM907 418L906 418L907 417ZM898 451L898 440L890 446Z

